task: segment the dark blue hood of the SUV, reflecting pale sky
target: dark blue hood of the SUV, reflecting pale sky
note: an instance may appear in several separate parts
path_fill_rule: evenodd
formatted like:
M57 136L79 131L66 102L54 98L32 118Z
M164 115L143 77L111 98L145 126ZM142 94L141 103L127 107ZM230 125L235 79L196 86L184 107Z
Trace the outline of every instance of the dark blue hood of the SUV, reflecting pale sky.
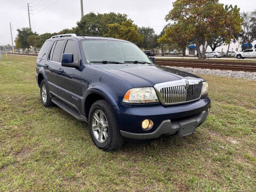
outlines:
M91 65L93 67L107 71L131 83L134 87L154 86L158 83L177 81L180 79L202 79L191 73L164 67L159 65L145 64L107 64Z

